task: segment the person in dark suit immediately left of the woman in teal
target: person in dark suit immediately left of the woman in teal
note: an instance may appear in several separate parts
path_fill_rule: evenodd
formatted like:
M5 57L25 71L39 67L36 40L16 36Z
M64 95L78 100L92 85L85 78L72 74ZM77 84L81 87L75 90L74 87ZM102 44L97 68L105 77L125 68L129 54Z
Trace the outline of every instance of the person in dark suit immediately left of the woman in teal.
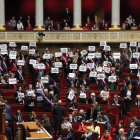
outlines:
M97 118L97 109L94 104L90 108L87 109L86 114L86 122L92 122L93 120L96 120Z

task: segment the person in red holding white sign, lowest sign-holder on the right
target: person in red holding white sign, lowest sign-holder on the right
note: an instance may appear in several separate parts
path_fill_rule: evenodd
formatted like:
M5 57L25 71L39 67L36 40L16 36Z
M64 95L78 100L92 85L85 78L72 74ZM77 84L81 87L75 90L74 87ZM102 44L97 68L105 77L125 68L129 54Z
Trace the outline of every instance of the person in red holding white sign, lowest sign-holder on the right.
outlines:
M107 86L105 86L104 90L101 91L100 97L101 97L101 100L102 100L101 104L108 104L108 98L110 98L110 92L109 92Z

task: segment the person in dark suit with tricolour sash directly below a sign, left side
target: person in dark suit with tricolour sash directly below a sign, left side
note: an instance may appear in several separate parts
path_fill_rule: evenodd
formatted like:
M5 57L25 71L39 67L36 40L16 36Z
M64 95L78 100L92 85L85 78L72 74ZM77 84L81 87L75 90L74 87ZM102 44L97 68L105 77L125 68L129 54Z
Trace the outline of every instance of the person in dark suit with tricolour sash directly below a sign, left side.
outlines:
M18 83L23 83L25 78L25 72L22 69L22 66L19 66L19 69L17 69L15 77L17 78Z

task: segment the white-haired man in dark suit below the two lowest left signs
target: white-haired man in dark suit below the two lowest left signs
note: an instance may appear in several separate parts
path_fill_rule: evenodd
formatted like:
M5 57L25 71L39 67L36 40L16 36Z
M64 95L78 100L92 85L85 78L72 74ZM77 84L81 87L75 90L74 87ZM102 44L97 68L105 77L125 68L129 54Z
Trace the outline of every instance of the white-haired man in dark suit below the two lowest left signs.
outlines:
M36 106L37 106L36 95L33 94L32 97L26 99L24 110L25 112L31 112L35 110Z

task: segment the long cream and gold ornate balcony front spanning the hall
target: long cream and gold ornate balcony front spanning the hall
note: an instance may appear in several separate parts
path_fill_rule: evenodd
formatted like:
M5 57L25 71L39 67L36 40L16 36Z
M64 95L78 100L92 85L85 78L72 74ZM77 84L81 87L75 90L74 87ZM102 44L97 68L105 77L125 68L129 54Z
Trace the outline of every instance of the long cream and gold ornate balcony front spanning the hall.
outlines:
M0 42L30 42L39 43L108 43L140 41L140 31L43 31L45 36L38 39L40 31L1 31ZM42 31L41 31L42 32Z

